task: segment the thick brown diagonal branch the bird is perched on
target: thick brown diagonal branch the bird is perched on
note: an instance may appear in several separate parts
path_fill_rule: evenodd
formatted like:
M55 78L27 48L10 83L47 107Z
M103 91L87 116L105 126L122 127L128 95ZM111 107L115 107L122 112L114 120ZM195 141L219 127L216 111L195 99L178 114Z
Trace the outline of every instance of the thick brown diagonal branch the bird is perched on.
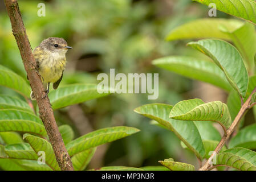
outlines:
M5 0L5 6L10 16L13 35L18 44L19 51L21 52L21 57L30 81L31 88L36 97L40 118L42 119L44 127L47 131L56 160L60 169L63 171L74 170L70 156L68 155L68 152L64 146L62 136L59 133L49 98L48 96L43 98L46 93L44 92L42 80L36 72L35 59L32 55L29 39L27 38L26 29L19 11L18 2L17 0Z

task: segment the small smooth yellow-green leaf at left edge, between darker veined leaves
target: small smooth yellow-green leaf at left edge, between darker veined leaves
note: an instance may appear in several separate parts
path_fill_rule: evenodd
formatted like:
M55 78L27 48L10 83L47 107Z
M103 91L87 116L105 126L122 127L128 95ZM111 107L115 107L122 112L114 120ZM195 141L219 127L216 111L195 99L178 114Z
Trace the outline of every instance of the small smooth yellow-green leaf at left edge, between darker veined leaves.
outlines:
M23 142L21 135L11 131L0 132L0 140L1 139L3 141L3 144L14 144Z

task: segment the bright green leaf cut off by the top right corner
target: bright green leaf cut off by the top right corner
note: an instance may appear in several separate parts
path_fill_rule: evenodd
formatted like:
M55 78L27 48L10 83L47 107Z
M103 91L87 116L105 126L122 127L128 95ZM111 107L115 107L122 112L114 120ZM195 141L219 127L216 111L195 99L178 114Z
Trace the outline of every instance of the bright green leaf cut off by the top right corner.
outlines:
M216 9L224 13L237 16L256 24L256 2L251 0L193 0L209 6L216 5Z

